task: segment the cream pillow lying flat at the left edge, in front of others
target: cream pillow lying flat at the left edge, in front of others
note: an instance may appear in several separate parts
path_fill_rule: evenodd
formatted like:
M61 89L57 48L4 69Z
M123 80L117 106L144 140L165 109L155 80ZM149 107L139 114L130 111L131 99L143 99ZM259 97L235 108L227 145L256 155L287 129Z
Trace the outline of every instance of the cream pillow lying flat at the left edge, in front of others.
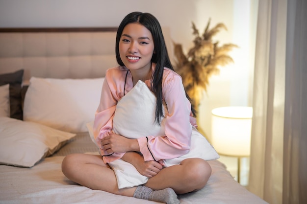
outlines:
M37 123L0 117L0 164L32 167L74 136Z

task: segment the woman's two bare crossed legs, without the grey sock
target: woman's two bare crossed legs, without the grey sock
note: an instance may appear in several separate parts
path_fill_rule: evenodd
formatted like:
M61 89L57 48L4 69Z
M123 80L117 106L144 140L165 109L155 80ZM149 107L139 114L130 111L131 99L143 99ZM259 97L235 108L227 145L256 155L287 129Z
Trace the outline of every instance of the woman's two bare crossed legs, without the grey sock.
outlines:
M118 189L113 170L97 155L68 155L63 159L62 172L71 181L95 190L132 197L136 189ZM183 194L203 188L210 175L211 167L205 160L185 159L179 165L163 168L145 185L153 190L170 187L177 194Z

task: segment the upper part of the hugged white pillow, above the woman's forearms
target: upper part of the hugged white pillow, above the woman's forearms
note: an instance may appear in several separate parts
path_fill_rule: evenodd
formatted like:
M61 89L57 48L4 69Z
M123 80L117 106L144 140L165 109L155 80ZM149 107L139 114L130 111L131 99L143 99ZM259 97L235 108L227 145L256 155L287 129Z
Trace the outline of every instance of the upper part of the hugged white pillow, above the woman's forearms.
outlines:
M113 117L114 133L134 139L142 136L164 136L164 117L160 120L161 126L154 121L155 103L153 92L139 80L133 89L117 102ZM163 113L166 113L166 107L163 108Z

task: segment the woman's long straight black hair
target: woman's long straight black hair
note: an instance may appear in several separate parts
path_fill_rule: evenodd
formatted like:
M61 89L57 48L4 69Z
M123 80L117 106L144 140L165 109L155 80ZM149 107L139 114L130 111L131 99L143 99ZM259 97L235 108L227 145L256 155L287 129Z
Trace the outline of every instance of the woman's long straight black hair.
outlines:
M154 53L151 62L156 64L154 72L152 74L151 88L156 96L156 108L155 108L155 122L160 124L160 118L163 115L162 105L162 79L164 67L170 68L175 71L170 58L168 56L167 48L165 45L162 29L158 20L150 13L132 12L129 13L123 21L120 23L116 34L116 60L120 66L125 66L120 54L119 54L119 41L125 26L129 23L140 23L145 26L153 36ZM185 93L186 94L186 93ZM188 95L186 94L188 97ZM188 99L190 99L188 97ZM192 113L195 115L195 110L192 108Z

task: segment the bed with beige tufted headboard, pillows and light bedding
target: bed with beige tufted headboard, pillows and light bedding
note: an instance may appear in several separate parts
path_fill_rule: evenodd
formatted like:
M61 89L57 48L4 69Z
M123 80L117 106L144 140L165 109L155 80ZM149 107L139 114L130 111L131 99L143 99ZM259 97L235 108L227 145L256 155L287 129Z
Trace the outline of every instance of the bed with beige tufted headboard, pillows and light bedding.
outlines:
M169 30L163 28L172 55ZM90 134L104 72L117 65L116 28L0 29L0 203L154 204L69 181L61 162L98 154ZM218 160L181 204L267 204L236 182Z

